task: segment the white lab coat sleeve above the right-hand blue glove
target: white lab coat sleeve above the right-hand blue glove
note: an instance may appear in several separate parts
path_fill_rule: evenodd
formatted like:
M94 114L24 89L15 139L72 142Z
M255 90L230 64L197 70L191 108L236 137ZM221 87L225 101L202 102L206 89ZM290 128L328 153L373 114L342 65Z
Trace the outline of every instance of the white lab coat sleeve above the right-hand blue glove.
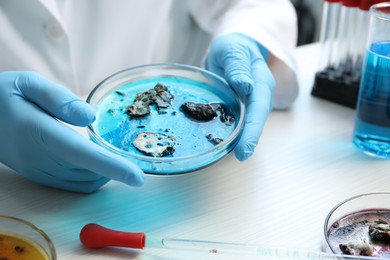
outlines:
M198 25L216 38L239 32L252 37L270 53L275 77L274 108L285 109L298 96L296 64L297 17L289 0L191 0L190 12Z

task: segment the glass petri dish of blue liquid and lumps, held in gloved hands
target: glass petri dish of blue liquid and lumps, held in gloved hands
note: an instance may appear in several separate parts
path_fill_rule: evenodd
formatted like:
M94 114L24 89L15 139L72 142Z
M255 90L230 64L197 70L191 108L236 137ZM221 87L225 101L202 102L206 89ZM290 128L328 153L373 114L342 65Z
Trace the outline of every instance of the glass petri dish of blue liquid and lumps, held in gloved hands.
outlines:
M193 172L222 159L239 140L245 117L243 101L223 78L183 64L119 71L87 102L96 110L91 140L151 175ZM207 118L198 118L204 113Z

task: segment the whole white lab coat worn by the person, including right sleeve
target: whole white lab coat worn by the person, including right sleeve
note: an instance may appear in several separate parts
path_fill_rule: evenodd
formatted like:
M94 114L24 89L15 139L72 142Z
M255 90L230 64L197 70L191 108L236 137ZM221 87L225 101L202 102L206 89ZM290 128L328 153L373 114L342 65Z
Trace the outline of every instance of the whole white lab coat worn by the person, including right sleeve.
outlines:
M274 107L290 106L298 88L289 0L1 0L0 71L37 71L86 96L128 67L201 66L210 39L230 32L269 49Z

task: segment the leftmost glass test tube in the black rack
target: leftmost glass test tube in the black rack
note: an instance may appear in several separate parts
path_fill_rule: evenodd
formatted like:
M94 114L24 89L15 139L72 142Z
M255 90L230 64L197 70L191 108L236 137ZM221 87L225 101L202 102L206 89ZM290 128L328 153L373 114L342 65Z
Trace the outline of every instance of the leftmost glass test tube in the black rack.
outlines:
M337 26L339 24L341 0L324 0L320 30L321 58L320 69L333 70L335 61L332 51L335 48Z

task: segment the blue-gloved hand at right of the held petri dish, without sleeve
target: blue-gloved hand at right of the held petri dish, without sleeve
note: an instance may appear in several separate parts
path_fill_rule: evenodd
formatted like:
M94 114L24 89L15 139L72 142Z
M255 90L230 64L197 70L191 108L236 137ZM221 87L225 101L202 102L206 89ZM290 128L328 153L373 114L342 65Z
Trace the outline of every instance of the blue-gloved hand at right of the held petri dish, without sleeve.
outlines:
M238 160L254 152L272 110L275 80L267 65L268 51L255 40L232 33L216 38L209 49L206 68L225 78L244 99L246 120L234 149Z

